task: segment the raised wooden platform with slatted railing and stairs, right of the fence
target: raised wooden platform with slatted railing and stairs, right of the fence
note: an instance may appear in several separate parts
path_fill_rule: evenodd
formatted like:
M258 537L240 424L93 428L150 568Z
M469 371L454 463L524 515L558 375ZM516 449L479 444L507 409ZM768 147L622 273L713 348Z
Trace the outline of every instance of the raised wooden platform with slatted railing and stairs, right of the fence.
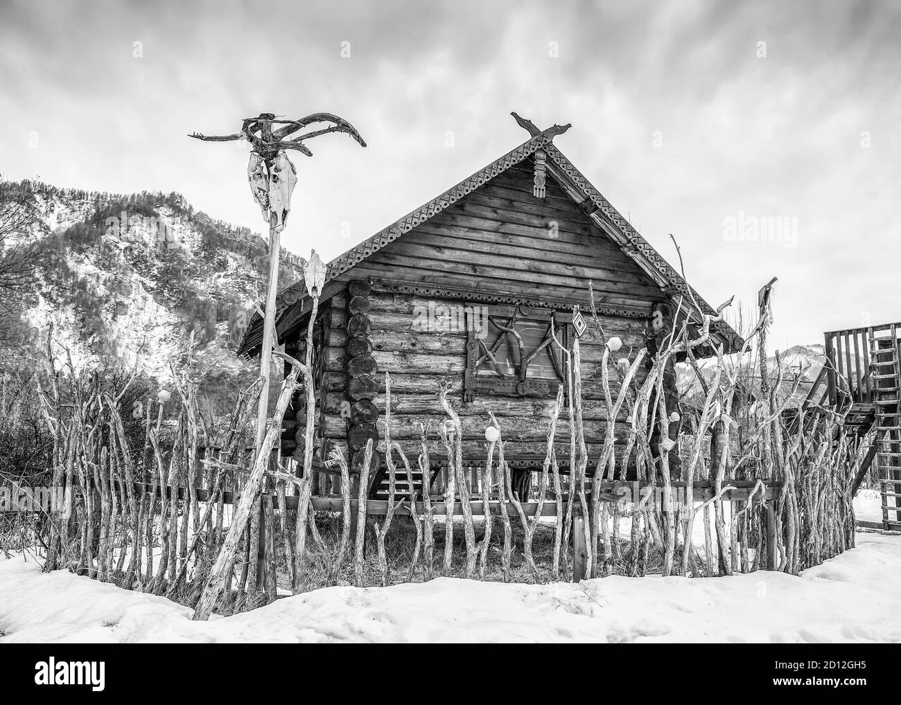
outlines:
M858 523L887 530L901 530L899 335L901 321L824 333L826 360L802 405L808 423L819 410L850 407L845 433L867 448L853 492L875 462L882 498L882 522Z

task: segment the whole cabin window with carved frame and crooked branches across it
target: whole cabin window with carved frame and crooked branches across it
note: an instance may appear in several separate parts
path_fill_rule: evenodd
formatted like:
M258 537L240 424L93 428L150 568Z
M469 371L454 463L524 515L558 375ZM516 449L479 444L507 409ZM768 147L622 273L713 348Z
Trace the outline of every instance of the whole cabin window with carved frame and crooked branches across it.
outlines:
M464 400L477 393L549 396L566 381L572 314L526 305L474 306L468 312Z

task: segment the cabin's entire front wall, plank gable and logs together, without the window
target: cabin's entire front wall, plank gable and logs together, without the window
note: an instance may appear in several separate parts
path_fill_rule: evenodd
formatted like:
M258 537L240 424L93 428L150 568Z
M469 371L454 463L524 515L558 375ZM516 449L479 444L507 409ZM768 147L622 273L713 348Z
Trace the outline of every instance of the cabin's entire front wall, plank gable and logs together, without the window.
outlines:
M341 444L349 457L354 456L365 444L368 427L367 421L350 419L349 405L361 400L374 405L367 412L378 414L378 437L384 438L387 372L392 379L392 436L413 456L418 452L420 424L445 418L438 391L447 383L451 398L460 405L464 453L469 459L484 458L487 412L494 411L512 464L541 461L546 433L542 420L551 411L554 393L536 398L479 390L473 402L464 403L467 331L461 325L423 330L418 324L430 308L524 303L571 311L578 304L590 318L590 286L605 335L623 339L614 359L631 361L638 349L646 347L652 307L666 300L666 295L551 178L544 198L532 194L532 181L530 159L338 277L336 282L345 287L357 286L361 280L370 286L365 302L359 292L347 288L331 299L332 330L323 357L326 402L319 429L323 438ZM354 301L365 312L349 311ZM595 456L606 426L600 382L605 338L589 322L581 339L583 398L586 442ZM611 377L615 395L617 377ZM643 377L644 370L638 381ZM675 377L669 379L674 386ZM617 420L617 437L625 434L626 413L623 410ZM434 429L430 437L432 459L440 462L444 448ZM557 437L559 462L566 468L569 420L565 412Z

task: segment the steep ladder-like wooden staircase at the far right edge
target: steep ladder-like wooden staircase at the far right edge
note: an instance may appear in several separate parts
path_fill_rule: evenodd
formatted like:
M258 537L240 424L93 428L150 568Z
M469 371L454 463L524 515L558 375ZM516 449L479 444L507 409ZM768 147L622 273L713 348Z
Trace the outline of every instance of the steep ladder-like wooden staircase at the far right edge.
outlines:
M882 499L883 529L901 530L901 368L896 326L887 336L868 330L870 379L876 405L875 462Z

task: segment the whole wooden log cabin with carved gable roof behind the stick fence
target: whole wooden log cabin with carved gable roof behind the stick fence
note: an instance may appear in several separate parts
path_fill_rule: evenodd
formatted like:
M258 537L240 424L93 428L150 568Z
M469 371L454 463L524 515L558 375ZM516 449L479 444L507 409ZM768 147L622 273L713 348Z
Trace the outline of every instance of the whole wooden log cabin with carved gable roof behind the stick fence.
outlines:
M605 340L622 339L617 359L632 360L645 347L652 353L672 330L674 312L689 308L682 276L553 143L567 128L538 131L527 124L530 140L328 264L314 321L314 466L323 468L330 448L338 446L351 458L351 470L359 468L362 449L373 438L380 443L374 460L380 470L370 496L384 473L386 372L391 435L408 455L419 452L421 424L447 418L438 391L449 384L463 427L464 461L485 463L487 413L493 411L506 458L521 476L530 475L542 464L558 385L566 387L566 359L551 330L571 348L577 312L590 323L579 342L586 443L594 458L605 433ZM305 353L311 308L303 280L278 296L278 341L290 354ZM714 322L711 330L724 353L741 347L725 322ZM239 354L258 355L261 339L258 314ZM669 385L674 391L673 369ZM286 415L283 456L302 459L304 423L298 398ZM624 412L616 423L623 426L618 437ZM445 450L435 429L429 438L437 469L446 465ZM560 467L567 472L565 412L557 438Z

